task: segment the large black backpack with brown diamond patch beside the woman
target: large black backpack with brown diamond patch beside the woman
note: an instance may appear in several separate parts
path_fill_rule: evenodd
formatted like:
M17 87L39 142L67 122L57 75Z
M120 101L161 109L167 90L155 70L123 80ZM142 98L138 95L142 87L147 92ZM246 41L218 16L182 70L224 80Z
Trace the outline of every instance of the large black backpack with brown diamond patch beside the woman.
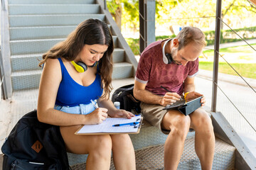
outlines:
M1 151L3 170L70 169L60 128L39 122L36 111L18 120Z

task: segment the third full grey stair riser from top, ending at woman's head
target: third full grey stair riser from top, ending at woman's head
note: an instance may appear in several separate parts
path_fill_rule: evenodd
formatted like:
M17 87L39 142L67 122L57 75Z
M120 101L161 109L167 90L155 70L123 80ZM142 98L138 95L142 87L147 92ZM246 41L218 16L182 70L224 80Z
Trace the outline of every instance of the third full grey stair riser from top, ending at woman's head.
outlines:
M110 25L108 25L111 28ZM77 26L38 26L9 28L10 40L67 38Z

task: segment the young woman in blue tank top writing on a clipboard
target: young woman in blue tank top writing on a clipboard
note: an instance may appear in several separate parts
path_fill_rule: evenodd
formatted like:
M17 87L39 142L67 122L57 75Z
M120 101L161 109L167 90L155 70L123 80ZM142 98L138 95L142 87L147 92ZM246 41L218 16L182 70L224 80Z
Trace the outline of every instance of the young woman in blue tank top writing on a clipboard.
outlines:
M113 50L107 24L88 19L46 52L39 64L43 73L38 120L60 126L68 152L88 154L86 169L110 169L111 152L116 169L135 169L129 135L75 135L80 125L99 124L107 116L134 116L110 101ZM93 104L96 101L99 108Z

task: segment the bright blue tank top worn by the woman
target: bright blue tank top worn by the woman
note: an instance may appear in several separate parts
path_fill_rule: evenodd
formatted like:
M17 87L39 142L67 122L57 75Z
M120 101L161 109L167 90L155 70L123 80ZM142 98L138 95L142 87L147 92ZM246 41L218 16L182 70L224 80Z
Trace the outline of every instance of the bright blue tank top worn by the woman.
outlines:
M62 80L58 89L55 104L58 106L78 106L88 104L90 100L95 100L102 96L101 77L97 73L95 81L90 86L82 86L75 82L68 70L65 68L63 61L58 58L61 67Z

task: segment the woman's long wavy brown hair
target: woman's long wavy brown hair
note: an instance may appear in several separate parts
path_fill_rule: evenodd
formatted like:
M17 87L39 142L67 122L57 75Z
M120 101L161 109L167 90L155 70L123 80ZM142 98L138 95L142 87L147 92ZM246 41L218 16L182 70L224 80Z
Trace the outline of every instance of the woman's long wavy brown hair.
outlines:
M65 60L73 61L78 56L84 45L107 45L107 51L99 61L100 76L102 78L102 88L105 91L102 97L110 97L112 91L112 53L114 51L114 42L110 28L107 24L98 19L88 19L78 25L78 27L68 35L63 42L54 45L48 52L43 55L43 60L38 64L42 64L48 58L57 59L59 57Z

